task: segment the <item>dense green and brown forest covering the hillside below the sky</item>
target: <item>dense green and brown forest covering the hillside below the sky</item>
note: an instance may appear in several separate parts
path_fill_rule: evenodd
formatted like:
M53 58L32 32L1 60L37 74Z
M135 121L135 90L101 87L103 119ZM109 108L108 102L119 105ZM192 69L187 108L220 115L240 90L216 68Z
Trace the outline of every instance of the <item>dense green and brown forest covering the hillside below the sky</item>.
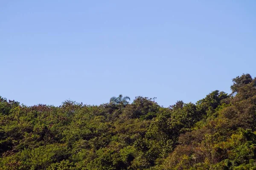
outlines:
M113 97L26 106L0 97L1 170L256 170L256 78L169 108Z

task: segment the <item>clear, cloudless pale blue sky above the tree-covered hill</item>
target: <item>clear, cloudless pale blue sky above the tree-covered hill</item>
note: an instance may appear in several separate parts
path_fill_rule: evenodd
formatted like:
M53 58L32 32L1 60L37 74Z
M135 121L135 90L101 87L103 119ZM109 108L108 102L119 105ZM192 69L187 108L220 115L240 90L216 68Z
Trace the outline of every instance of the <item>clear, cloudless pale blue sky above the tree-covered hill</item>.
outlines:
M0 96L165 107L256 77L255 0L1 0Z

